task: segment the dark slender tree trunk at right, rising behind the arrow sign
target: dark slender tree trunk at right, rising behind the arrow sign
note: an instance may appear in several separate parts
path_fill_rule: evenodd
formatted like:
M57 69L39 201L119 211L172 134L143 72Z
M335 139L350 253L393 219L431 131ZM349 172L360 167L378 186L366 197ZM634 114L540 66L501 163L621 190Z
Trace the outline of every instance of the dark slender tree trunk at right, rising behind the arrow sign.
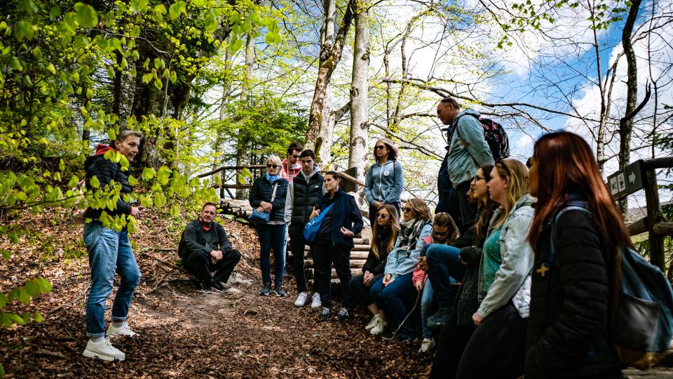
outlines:
M638 67L636 61L636 53L633 51L631 41L633 27L638 17L638 8L640 8L641 0L634 0L629 9L624 29L622 31L622 46L624 48L624 55L626 55L627 62L627 81L626 81L626 109L625 114L619 122L619 168L623 169L628 166L631 159L631 132L633 130L634 111L637 107L638 100ZM628 211L628 201L624 199L620 201L622 213L625 215Z

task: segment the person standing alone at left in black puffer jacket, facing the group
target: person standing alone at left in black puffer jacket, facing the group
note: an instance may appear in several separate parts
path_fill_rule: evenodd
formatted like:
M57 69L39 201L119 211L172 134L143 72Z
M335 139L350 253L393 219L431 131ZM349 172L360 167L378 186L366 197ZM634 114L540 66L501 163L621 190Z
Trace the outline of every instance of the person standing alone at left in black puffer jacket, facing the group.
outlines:
M140 138L142 134L136 131L122 131L111 146L98 145L95 154L84 162L88 189L95 190L91 185L94 177L100 183L98 188L101 191L113 180L121 185L121 193L114 210L88 208L84 213L84 217L90 220L84 225L84 244L91 269L91 287L86 303L86 335L89 340L83 352L84 357L123 361L125 354L112 346L109 338L115 335L136 335L126 324L126 318L133 292L140 282L140 270L135 262L126 228L116 231L104 227L100 218L104 214L112 217L126 215L142 218L144 206L136 207L124 201L132 188L121 164L104 157L106 152L114 151L122 154L129 162L133 161L140 147ZM112 293L115 270L121 277L121 283L112 305L112 324L107 329L108 338L105 338L105 302Z

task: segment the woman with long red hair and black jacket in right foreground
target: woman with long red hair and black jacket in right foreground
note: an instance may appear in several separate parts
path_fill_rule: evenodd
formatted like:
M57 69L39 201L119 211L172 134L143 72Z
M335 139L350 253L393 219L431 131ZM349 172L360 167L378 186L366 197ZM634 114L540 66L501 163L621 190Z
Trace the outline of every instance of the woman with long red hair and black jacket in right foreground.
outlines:
M573 133L543 135L529 178L538 202L526 379L623 378L608 314L616 248L631 241L591 147Z

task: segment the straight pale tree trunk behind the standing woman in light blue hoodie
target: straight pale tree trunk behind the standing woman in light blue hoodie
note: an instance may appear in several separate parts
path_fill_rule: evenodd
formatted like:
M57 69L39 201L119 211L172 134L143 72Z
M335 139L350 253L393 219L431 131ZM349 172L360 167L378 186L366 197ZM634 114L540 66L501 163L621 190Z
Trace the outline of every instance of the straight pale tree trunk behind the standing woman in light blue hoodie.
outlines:
M365 177L367 164L367 78L369 75L369 2L358 1L353 43L353 79L351 81L351 150L348 167L358 168L358 178Z

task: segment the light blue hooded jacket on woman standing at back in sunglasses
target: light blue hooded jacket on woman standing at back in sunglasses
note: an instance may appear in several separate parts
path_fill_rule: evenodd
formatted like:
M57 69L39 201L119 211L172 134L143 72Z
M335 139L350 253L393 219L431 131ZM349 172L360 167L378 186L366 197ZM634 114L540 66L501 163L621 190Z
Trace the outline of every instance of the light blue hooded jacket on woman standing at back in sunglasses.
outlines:
M405 171L398 161L372 164L365 175L365 198L369 204L381 201L383 204L400 202L405 187Z

